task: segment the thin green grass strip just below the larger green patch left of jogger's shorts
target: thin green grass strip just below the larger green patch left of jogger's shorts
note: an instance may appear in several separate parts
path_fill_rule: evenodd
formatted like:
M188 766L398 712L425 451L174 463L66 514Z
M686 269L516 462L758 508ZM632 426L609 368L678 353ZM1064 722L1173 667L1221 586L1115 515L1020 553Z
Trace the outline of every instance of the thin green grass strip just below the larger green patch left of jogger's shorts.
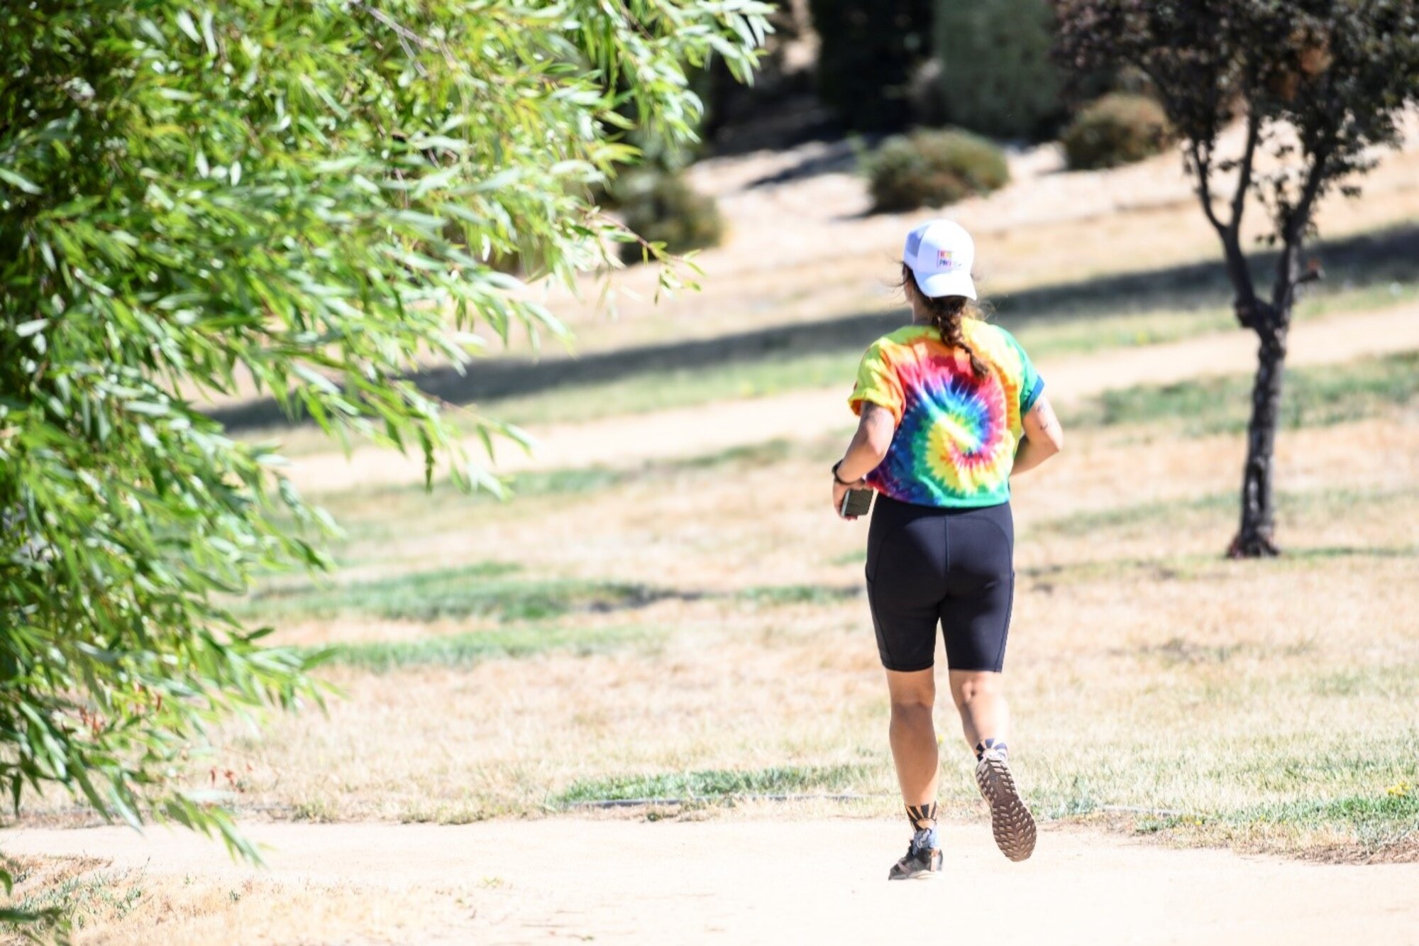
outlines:
M651 631L634 628L518 626L474 634L454 634L419 641L370 641L305 648L326 665L387 673L419 666L465 668L485 660L526 658L553 651L578 656L606 653L644 642Z

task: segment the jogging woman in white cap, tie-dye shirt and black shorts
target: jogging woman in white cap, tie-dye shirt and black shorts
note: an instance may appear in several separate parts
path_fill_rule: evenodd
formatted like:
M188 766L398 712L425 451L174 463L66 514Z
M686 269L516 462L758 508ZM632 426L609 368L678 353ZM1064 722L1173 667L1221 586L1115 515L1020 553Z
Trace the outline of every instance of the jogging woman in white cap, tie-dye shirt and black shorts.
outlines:
M888 879L941 869L939 767L932 705L937 625L951 696L995 841L1012 861L1034 851L1034 820L1007 763L1000 685L1015 597L1010 476L1063 446L1043 381L1010 332L979 320L971 236L948 220L907 234L902 291L912 322L863 355L850 405L860 416L833 467L833 509L877 490L867 534L867 599L891 696L891 751L912 837Z

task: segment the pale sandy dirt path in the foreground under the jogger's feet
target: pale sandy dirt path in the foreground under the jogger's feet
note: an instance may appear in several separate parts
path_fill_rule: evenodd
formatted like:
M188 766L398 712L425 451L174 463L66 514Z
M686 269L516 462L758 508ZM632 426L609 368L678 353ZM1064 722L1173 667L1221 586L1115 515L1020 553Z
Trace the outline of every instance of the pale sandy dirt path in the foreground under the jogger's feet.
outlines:
M1335 866L1044 831L1013 865L985 824L945 830L946 872L887 884L895 821L251 825L268 881L372 896L464 886L406 942L992 943L1419 942L1419 864ZM10 855L88 855L146 875L250 878L189 834L7 831ZM417 920L414 922L417 926ZM241 929L228 930L240 937ZM387 942L326 928L319 942ZM406 939L407 937L407 939Z

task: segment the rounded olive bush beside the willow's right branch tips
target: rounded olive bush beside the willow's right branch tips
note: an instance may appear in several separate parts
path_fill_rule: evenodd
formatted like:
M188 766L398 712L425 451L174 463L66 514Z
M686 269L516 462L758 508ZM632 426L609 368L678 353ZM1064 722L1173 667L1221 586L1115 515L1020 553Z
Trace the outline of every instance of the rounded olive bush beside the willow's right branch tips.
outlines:
M724 217L714 197L702 195L680 175L643 170L627 175L612 189L626 226L650 243L664 243L668 253L718 246ZM622 246L622 260L643 259L640 243Z

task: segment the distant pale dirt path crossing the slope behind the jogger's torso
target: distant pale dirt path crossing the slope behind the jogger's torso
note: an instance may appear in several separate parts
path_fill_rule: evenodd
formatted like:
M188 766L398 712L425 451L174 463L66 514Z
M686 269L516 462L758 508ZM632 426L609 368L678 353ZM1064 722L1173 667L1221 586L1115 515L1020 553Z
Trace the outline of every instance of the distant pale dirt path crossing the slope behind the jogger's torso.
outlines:
M1419 348L1419 307L1408 305L1369 315L1344 315L1304 322L1291 331L1288 364L1338 364L1364 355ZM1250 332L1206 335L1166 345L1105 351L1097 355L1044 361L1040 371L1056 403L1137 384L1169 384L1202 375L1252 371L1256 341ZM498 470L579 466L622 466L643 460L698 456L732 446L778 437L802 439L847 428L841 386L797 391L769 398L727 401L600 422L534 429L538 447L531 456L502 445ZM475 443L468 445L477 456ZM390 450L359 449L302 457L291 473L307 493L341 491L355 486L419 483L423 464Z

